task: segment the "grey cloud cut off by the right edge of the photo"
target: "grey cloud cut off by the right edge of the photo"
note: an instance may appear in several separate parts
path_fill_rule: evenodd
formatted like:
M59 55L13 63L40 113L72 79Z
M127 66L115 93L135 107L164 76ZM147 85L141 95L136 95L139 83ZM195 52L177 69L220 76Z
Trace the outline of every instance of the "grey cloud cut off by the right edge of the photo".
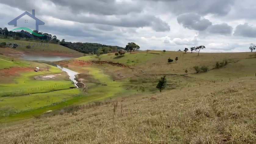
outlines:
M236 26L234 36L256 37L256 27L248 23Z

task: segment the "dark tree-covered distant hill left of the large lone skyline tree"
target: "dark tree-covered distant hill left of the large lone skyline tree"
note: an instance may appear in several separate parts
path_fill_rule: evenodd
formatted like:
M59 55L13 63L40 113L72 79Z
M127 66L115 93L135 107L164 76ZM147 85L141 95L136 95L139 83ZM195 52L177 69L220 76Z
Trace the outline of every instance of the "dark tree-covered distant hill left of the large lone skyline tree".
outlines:
M105 54L117 52L119 49L124 49L120 46L109 46L99 43L72 43L72 42L61 42L60 45L66 46L72 50L77 50L81 53L91 54Z

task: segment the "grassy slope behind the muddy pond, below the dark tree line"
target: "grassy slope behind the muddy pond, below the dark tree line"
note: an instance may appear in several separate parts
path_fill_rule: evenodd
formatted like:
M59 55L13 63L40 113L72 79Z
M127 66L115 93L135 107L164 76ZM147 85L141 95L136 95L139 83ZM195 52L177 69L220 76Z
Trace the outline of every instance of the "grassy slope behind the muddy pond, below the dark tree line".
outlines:
M0 43L6 42L7 44L17 44L18 47L14 50L25 53L25 54L45 54L45 55L54 55L54 56L69 56L69 57L81 57L84 54L71 50L65 46L52 43L39 43L23 40L13 40L13 39L0 39ZM30 49L27 49L26 46L31 46ZM2 49L2 48L1 48Z

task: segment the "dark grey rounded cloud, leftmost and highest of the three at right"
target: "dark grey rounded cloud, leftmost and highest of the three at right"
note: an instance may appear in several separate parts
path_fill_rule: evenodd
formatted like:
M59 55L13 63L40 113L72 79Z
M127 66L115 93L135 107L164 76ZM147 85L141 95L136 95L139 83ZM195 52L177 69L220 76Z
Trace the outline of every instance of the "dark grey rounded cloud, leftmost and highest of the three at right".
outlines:
M208 19L204 19L200 15L194 13L179 15L177 20L183 27L199 31L203 31L207 29L208 26L212 25Z

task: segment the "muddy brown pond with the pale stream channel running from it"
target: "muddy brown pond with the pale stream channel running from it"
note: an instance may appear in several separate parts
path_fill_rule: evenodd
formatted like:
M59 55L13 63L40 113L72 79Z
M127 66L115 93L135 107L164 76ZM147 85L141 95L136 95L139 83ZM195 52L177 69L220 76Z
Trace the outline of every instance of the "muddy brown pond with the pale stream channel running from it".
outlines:
M62 71L65 71L68 74L69 79L74 82L74 85L76 87L78 87L76 85L78 82L75 80L75 75L78 74L78 73L73 71L73 70L70 70L66 67L61 67L59 65L56 65L54 63L55 61L68 60L68 59L71 59L72 57L22 55L21 58L24 59L24 60L38 61L38 62L42 62L42 63L46 63L46 64L49 64L49 65L58 67Z

